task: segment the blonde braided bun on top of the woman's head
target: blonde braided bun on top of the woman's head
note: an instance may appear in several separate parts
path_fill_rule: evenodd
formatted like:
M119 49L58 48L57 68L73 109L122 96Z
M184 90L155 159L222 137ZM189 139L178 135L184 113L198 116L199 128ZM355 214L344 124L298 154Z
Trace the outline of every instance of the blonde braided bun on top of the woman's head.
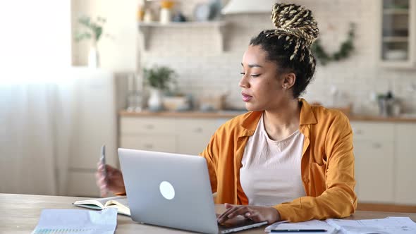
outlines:
M312 11L296 4L274 4L271 20L276 35L293 35L310 46L319 35L317 21Z

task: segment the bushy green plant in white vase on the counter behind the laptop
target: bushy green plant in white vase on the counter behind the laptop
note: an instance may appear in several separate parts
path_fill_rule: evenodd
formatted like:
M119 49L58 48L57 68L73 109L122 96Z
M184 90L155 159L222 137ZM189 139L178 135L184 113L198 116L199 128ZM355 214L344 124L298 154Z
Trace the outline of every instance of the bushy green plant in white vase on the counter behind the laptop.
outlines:
M163 109L162 92L171 89L175 83L175 71L166 66L154 66L143 70L145 84L150 87L150 97L147 105L151 111L160 111Z

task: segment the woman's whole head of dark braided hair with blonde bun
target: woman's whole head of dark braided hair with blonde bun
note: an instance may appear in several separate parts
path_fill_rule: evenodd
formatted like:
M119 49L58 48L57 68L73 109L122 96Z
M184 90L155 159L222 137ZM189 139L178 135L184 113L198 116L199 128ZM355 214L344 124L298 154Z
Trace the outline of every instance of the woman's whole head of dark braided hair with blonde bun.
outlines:
M274 4L271 20L276 28L260 32L250 45L260 45L267 51L269 61L295 73L293 96L299 97L315 71L311 45L319 35L317 21L310 10L296 4Z

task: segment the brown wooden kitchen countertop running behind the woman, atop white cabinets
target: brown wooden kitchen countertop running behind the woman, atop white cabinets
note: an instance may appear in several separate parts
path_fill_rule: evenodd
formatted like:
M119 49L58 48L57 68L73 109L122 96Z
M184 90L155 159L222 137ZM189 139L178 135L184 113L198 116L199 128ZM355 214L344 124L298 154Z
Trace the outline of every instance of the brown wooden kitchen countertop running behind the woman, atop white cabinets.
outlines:
M243 111L216 111L216 112L202 112L202 111L141 111L141 112L129 112L120 111L120 116L140 117L180 117L180 118L233 118L239 114L245 113ZM350 121L371 121L371 122L392 122L392 123L416 123L416 117L414 118L403 118L403 117L381 117L381 116L360 116L350 115L348 116Z

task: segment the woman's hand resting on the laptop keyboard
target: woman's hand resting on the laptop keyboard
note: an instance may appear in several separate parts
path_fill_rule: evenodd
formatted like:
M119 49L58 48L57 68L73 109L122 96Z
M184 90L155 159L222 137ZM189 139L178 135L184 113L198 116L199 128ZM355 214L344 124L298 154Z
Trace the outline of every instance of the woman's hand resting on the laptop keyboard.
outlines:
M219 223L224 223L238 215L250 218L255 222L267 221L268 223L276 223L280 221L279 211L273 207L238 206L227 203L225 207L226 211L217 218Z

